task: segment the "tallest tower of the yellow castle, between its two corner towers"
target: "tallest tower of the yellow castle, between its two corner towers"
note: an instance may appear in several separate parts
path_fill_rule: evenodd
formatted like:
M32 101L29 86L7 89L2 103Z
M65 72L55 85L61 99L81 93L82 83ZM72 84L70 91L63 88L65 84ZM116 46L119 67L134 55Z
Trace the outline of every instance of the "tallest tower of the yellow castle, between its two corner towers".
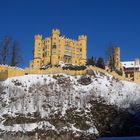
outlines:
M58 64L58 46L59 46L60 30L52 30L52 44L51 44L51 64Z

